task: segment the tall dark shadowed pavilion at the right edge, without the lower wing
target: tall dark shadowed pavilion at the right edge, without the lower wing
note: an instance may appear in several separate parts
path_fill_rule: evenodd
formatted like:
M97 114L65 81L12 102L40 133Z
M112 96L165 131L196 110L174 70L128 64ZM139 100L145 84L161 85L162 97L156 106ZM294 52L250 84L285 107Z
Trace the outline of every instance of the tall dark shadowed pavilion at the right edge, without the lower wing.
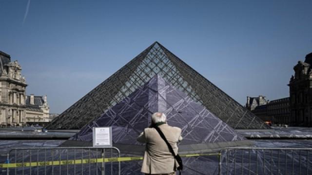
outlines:
M298 61L293 67L289 82L290 88L290 125L312 126L312 53L305 61Z

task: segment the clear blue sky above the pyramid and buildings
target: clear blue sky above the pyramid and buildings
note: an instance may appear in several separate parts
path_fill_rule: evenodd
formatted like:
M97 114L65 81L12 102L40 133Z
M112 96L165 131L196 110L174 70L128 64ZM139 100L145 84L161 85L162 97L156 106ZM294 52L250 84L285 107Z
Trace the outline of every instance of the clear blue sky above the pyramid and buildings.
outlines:
M29 3L29 5L28 5ZM29 8L27 8L29 7ZM0 0L0 51L61 113L158 41L245 105L287 97L311 0Z

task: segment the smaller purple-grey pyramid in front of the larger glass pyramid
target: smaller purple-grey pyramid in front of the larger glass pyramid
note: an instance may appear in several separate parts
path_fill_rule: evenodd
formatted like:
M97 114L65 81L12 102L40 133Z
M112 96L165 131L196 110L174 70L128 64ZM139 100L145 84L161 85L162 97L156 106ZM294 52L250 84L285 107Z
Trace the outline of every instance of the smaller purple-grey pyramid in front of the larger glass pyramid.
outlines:
M182 129L180 152L207 152L212 149L210 144L216 142L222 142L223 147L233 146L233 143L250 144L203 105L194 102L159 75L87 124L70 140L91 144L93 127L112 126L114 146L131 145L122 151L129 152L133 145L142 145L136 139L144 128L149 127L152 114L158 111L167 115L169 125Z

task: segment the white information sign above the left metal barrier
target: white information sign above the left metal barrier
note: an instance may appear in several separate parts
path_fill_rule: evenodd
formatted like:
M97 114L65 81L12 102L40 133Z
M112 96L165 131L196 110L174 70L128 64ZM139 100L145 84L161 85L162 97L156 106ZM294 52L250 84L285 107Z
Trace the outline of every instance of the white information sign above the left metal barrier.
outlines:
M112 127L93 127L93 147L112 146Z

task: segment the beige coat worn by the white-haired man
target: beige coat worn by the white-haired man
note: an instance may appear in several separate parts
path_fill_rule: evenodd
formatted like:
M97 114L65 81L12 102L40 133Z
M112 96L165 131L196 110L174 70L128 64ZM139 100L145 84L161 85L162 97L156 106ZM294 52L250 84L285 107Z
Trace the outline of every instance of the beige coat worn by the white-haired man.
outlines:
M177 154L177 142L182 140L181 129L168 124L158 126L164 133L166 139L171 144ZM146 174L167 174L176 171L179 166L175 158L170 153L167 144L160 137L155 128L145 128L137 141L146 143L142 173Z

